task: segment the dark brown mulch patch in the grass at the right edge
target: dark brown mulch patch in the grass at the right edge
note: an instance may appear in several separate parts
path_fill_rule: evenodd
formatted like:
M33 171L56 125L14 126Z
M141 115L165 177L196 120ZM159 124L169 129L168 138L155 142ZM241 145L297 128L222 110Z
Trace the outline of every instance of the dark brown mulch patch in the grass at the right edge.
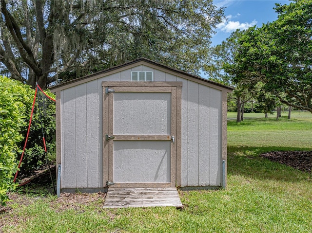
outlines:
M260 157L286 164L304 172L312 172L312 151L272 151Z

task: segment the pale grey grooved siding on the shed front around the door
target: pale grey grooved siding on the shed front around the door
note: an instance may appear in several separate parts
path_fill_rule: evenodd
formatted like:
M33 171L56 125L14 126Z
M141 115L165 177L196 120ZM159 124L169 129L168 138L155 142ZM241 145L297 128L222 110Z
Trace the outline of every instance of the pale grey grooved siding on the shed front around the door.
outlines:
M152 71L154 81L179 81L181 186L220 186L222 91L145 65L60 91L61 188L101 188L103 180L102 81L131 81L131 71Z

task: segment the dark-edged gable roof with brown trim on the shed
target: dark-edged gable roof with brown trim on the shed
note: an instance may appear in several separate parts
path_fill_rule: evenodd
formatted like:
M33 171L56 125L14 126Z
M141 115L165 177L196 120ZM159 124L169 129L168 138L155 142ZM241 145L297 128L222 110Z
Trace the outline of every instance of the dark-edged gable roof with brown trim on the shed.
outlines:
M170 68L169 66L162 65L160 63L157 63L155 61L152 61L152 60L149 60L149 59L146 59L146 58L138 58L136 60L124 63L122 65L115 66L113 68L109 68L109 69L106 69L106 70L103 70L103 71L99 71L99 72L95 72L95 73L92 73L92 74L88 74L86 76L79 77L79 78L76 78L76 79L73 79L73 80L61 83L59 85L50 87L49 89L52 92L57 92L59 90L64 90L64 89L67 89L67 88L71 88L71 87L77 86L79 84L86 83L86 82L89 82L89 81L92 81L92 80L95 80L95 79L98 79L98 78L101 78L101 77L104 77L104 76L107 76L107 75L110 75L110 74L113 74L113 73L116 73L116 72L121 72L123 70L127 70L127 69L130 69L130 68L139 66L139 65L145 65L145 66L149 66L151 68L154 68L156 70L161 70L163 72L171 73L173 75L176 75L176 76L179 76L179 77L182 77L182 78L185 78L185 79L188 79L188 80L191 80L191 81L203 84L205 86L209 86L209 87L215 88L217 90L224 90L224 91L227 91L227 92L232 92L233 89L234 89L232 87L229 87L229 86L226 86L226 85L223 85L223 84L211 81L209 79L204 79L204 78L201 78L199 76L196 76L196 75L193 75L193 74L190 74L190 73L187 73L187 72L183 72L183 71L179 71L179 70Z

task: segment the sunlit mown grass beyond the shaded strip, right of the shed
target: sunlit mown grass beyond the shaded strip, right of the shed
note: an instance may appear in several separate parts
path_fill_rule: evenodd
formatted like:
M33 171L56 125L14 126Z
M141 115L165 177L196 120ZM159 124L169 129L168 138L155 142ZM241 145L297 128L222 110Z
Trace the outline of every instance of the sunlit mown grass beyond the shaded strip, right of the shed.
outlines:
M229 113L229 115L232 113ZM228 146L253 146L258 151L272 150L311 150L312 149L312 114L310 112L294 112L292 119L283 116L254 118L255 114L247 113L241 123L228 121ZM310 115L309 115L310 114ZM275 148L276 147L276 148ZM235 149L235 148L234 148Z

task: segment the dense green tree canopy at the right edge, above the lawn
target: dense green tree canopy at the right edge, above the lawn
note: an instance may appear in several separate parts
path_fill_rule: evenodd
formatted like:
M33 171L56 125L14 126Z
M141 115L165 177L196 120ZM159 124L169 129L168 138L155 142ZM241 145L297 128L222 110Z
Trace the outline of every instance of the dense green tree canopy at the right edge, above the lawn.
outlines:
M238 40L236 83L273 94L280 102L312 113L312 0L276 4L277 20L248 29Z

